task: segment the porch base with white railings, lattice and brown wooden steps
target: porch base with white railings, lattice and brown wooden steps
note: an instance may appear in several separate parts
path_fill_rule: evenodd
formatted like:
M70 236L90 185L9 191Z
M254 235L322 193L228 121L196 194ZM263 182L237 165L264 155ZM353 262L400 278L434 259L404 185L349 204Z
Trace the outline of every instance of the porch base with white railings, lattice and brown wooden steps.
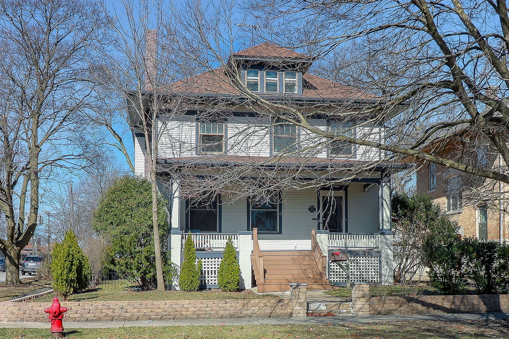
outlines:
M285 290L289 282L307 282L310 290L327 289L329 284L345 285L346 273L329 258L329 253L335 249L356 253L351 256L351 281L392 284L392 234L389 232L330 233L310 230L308 241L298 241L294 245L286 241L284 248L278 247L281 245L278 240L258 239L257 231L191 234L196 257L203 264L200 288L217 288L217 271L229 238L237 250L241 289L257 285L260 292ZM188 236L179 230L171 232L171 258L178 267Z

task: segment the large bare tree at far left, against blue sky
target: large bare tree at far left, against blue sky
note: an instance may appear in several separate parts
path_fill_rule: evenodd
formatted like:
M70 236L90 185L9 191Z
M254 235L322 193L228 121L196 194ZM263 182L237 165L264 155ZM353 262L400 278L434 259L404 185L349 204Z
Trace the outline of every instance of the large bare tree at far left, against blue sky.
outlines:
M0 2L0 209L7 237L6 284L19 280L19 254L36 229L41 180L52 168L86 165L88 120L94 104L90 44L101 41L103 11L83 0ZM25 224L25 217L28 222Z

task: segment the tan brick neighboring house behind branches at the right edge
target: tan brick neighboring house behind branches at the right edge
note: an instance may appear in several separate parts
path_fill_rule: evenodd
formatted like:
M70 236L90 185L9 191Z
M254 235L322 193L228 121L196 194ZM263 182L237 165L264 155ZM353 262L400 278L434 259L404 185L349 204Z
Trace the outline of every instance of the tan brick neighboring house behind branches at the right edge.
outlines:
M423 146L423 151L494 171L505 168L496 149L470 126L443 131ZM418 162L416 190L430 195L451 220L458 222L461 236L500 243L509 240L506 184L434 163Z

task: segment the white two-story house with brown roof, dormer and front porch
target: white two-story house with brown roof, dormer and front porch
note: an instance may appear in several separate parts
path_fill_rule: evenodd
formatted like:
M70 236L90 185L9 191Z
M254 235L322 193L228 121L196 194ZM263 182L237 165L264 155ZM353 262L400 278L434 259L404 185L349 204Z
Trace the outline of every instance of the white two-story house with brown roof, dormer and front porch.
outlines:
M181 103L162 109L152 125L159 189L170 206L169 247L180 267L192 232L203 262L202 287L217 286L228 238L238 251L241 288L346 284L347 274L329 260L329 252L340 248L349 255L352 281L393 282L390 175L409 164L385 163L378 150L331 143L270 119L232 85L239 77L264 100L305 110L320 130L383 140L383 126L365 116L332 114L379 99L310 74L312 63L305 54L264 43L167 88L168 100ZM136 174L146 176L144 134L132 110Z

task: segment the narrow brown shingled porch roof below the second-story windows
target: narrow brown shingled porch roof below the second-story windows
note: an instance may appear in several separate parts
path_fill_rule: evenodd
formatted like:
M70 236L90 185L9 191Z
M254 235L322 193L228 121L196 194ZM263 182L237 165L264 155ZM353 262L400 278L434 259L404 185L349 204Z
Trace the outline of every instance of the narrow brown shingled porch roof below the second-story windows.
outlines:
M326 170L328 168L362 169L369 168L370 171L383 170L406 170L414 166L406 162L376 162L362 161L355 159L334 159L334 158L307 158L307 157L257 157L257 156L234 156L234 155L211 155L182 158L158 159L160 165L206 165L211 167L224 167L232 165L252 164L260 167L274 168L307 168L313 170Z

